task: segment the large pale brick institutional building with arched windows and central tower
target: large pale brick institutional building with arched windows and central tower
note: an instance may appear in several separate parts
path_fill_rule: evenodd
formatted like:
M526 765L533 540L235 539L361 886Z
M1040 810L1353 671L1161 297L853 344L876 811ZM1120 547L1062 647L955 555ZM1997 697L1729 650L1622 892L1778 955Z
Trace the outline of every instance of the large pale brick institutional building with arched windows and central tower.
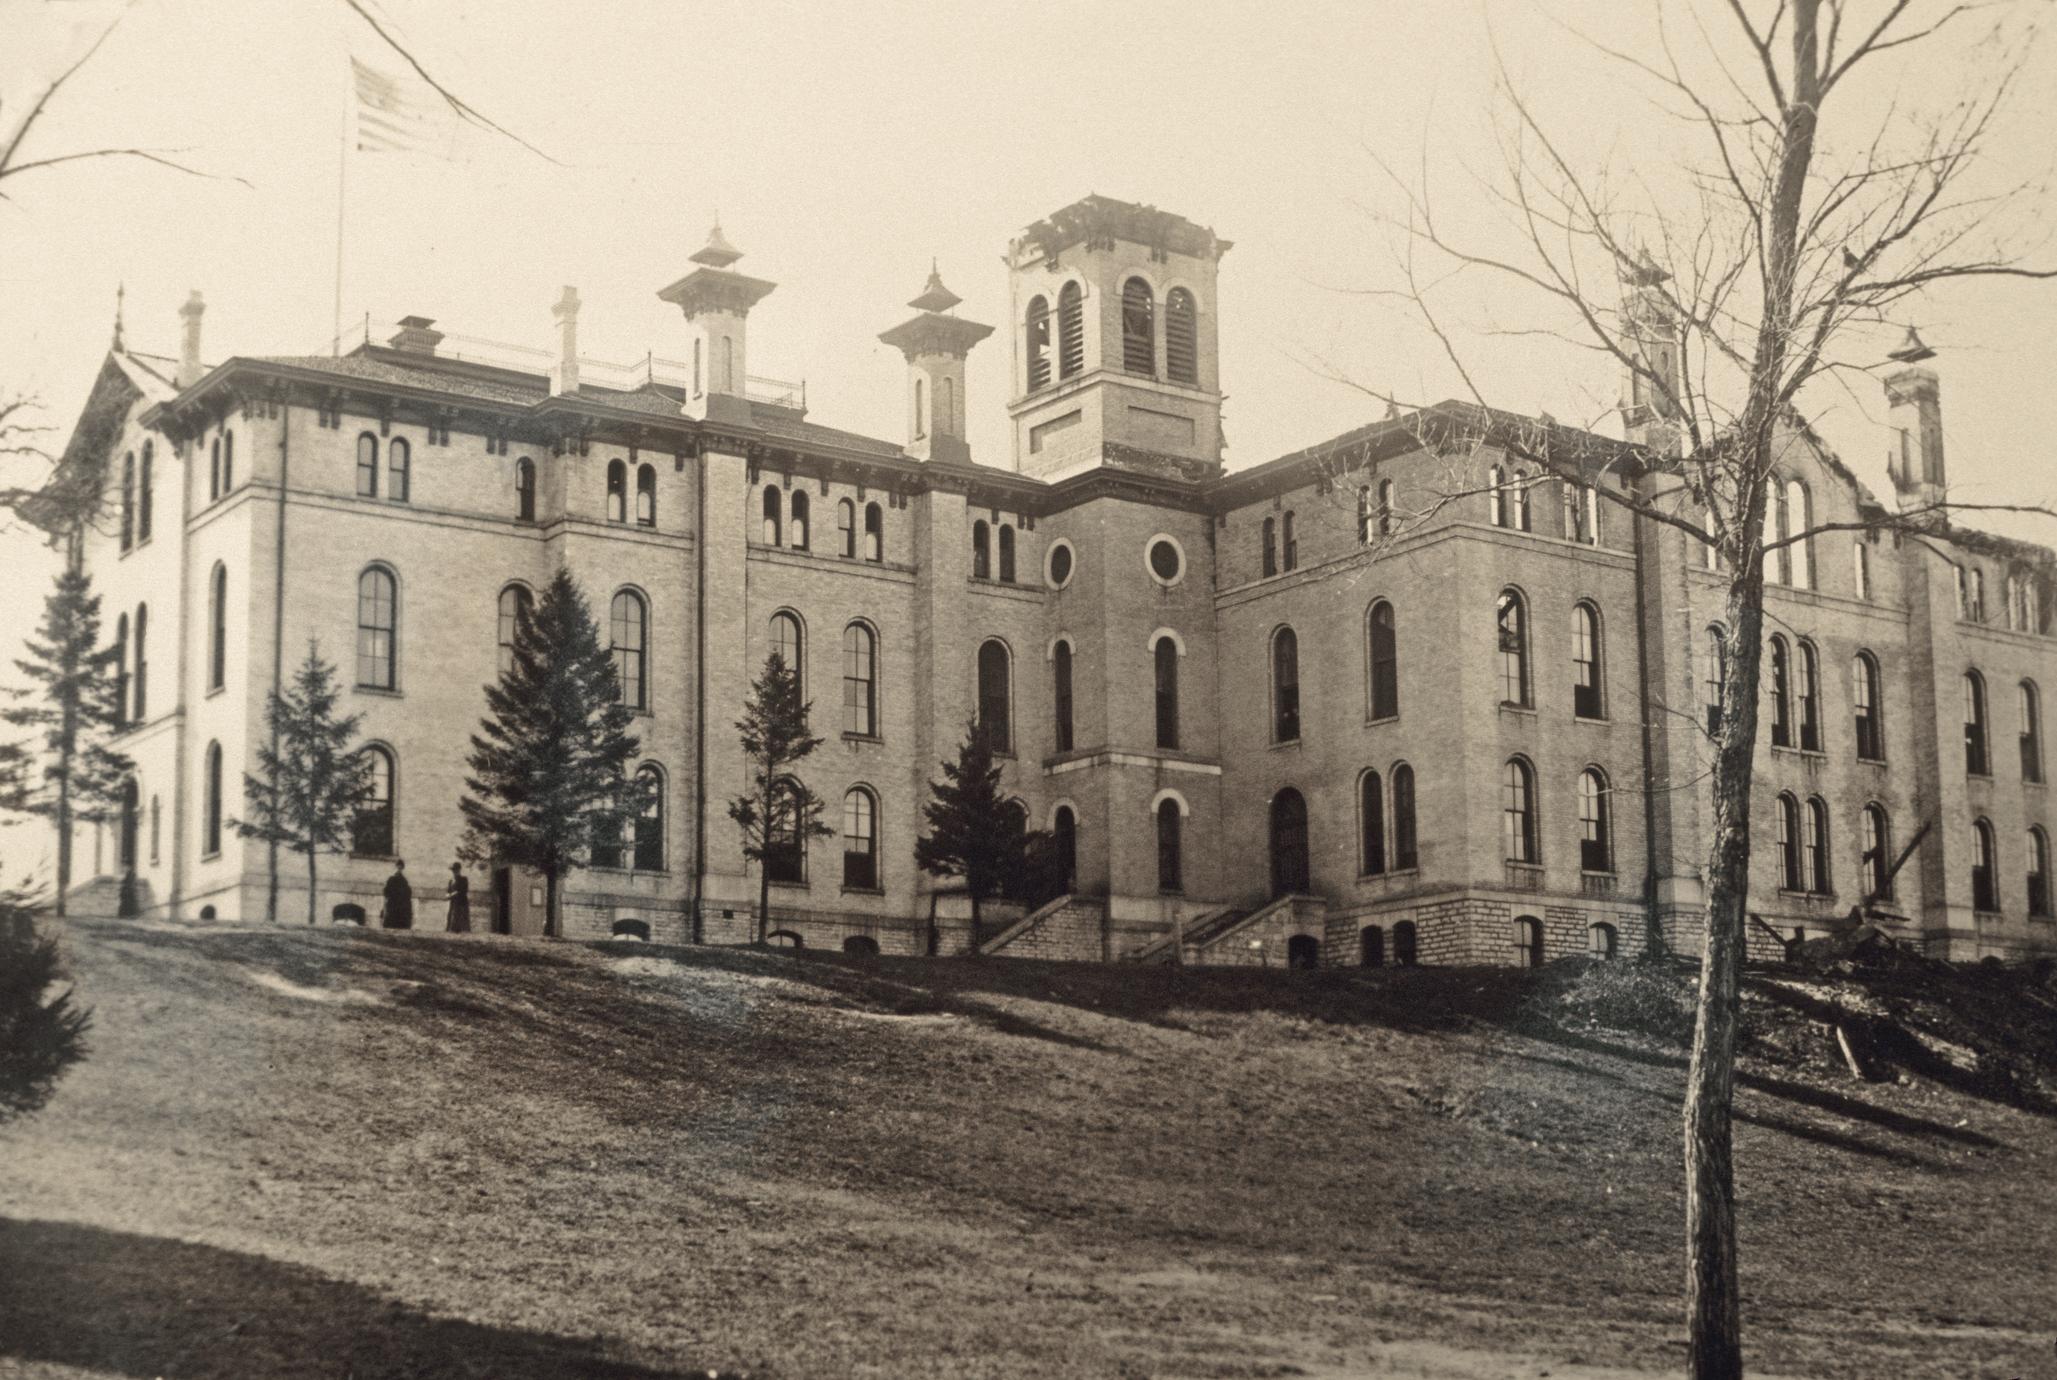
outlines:
M514 601L568 566L615 646L658 810L574 874L568 934L749 932L757 878L724 802L734 722L773 648L823 749L835 839L773 888L808 944L1210 963L1524 963L1689 938L1724 576L1607 498L1687 502L1590 438L1586 485L1522 475L1444 405L1224 473L1216 269L1228 243L1088 197L1008 253L1012 457L973 463L965 358L991 327L930 280L880 339L907 356L905 442L806 420L749 374L751 306L716 230L662 290L693 358L547 366L407 319L339 358L202 364L119 348L68 463L105 469L86 561L123 642L134 806L88 831L97 886L158 913L304 909L294 858L239 812L265 691L311 640L381 755L360 856L319 905L374 907L391 856L438 891L481 685ZM1650 341L1662 350L1662 331ZM1897 502L1944 485L1938 380L1886 380ZM1666 426L1625 403L1631 438ZM1481 444L1481 438L1487 444ZM1804 428L1771 522L1886 510ZM1615 457L1615 459L1609 459ZM1798 531L1798 526L1794 529ZM1936 522L1775 553L1755 909L1818 930L1923 827L1897 925L1932 952L2057 948L2038 685L2057 679L2053 557ZM919 802L965 724L1072 858L1072 895L971 936L917 872ZM481 928L535 932L516 872ZM428 899L428 915L440 915Z

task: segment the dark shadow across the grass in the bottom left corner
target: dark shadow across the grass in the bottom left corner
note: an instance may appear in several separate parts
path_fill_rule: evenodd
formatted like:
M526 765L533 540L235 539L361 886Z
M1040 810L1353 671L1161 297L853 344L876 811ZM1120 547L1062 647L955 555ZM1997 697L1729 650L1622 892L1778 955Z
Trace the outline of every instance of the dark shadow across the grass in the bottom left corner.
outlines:
M434 1318L259 1255L70 1222L0 1220L0 1368L117 1376L662 1380L599 1345Z

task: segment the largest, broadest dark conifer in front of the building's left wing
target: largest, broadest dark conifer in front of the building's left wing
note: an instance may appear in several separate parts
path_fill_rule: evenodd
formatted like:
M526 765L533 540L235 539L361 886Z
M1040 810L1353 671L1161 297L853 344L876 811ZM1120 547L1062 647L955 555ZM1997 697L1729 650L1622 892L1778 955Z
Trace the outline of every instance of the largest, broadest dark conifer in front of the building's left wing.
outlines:
M627 773L634 716L568 570L516 615L514 656L485 687L485 707L459 800L463 856L541 872L543 934L557 936L564 874L590 866L597 845L617 845L644 808L644 784Z

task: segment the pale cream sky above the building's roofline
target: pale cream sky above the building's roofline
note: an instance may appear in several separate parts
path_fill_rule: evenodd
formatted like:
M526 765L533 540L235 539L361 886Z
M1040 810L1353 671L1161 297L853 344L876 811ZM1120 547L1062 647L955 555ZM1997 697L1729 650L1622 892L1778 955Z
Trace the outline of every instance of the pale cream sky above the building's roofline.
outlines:
M1934 2L1934 0L1932 0ZM1257 465L1362 426L1364 389L1463 393L1407 311L1380 171L1423 175L1448 224L1500 232L1477 177L1506 123L1500 72L1535 101L1567 162L1633 185L1705 150L1648 84L1594 43L1705 47L1689 0L1146 0L1037 6L775 0L378 0L372 6L471 105L549 158L467 134L448 152L356 156L337 216L348 51L395 58L341 0L0 0L0 132L121 23L31 136L31 152L175 148L214 177L136 160L29 173L0 199L0 389L31 393L62 436L107 348L125 288L134 348L177 352L177 308L206 294L206 356L313 354L331 337L337 228L344 315L549 350L549 304L584 300L582 354L631 362L689 350L656 290L689 271L718 216L778 290L751 321L751 372L804 378L810 417L901 438L903 370L876 335L909 315L930 261L1004 325L1002 253L1028 222L1098 191L1179 212L1234 241L1220 265L1228 465ZM1761 6L1759 6L1761 8ZM1862 10L1880 8L1874 2ZM2026 6L2034 10L2036 6ZM1711 51L1742 66L1722 6ZM1979 21L1983 23L1983 19ZM1971 31L1960 31L1971 35ZM2057 148L2057 47L2028 49L1987 142L1993 177L2047 179ZM1835 111L1870 125L1948 109L2020 49L1950 43L1884 62ZM1831 119L1831 140L1837 125ZM2018 226L2043 261L2057 199ZM2036 239L2041 237L2041 239ZM1911 302L1940 352L1958 496L2057 496L2057 284L1960 284ZM1596 415L1604 360L1506 331L1537 323L1512 288L1463 290L1460 346L1493 403ZM1894 329L1905 323L1892 323ZM1884 339L1866 341L1882 354ZM973 459L1006 465L1008 333L971 356ZM1351 383L1364 385L1351 387ZM1886 492L1874 378L1825 387L1808 415ZM56 446L53 446L56 448ZM19 479L19 473L14 475ZM1983 522L2053 541L2036 518ZM0 535L10 570L35 543ZM0 642L39 603L0 590ZM4 677L0 677L4 679Z

